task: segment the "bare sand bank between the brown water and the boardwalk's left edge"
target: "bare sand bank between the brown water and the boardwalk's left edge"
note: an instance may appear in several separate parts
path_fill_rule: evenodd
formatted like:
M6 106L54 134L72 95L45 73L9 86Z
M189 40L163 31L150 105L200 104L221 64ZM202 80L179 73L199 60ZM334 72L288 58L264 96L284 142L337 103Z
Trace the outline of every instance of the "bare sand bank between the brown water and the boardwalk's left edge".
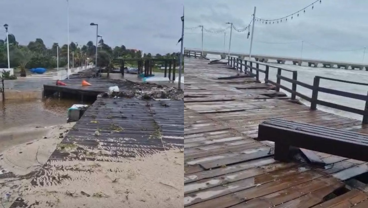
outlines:
M13 135L17 141L1 141L10 148L0 153L0 202L9 207L11 202L21 196L29 187L31 178L46 163L56 146L65 136L66 131L75 123L56 125L53 127L29 127L2 131L2 135ZM14 130L14 129L13 129ZM42 136L41 136L42 135ZM38 137L29 141L29 138ZM15 143L26 142L15 145ZM8 194L8 195L7 195Z

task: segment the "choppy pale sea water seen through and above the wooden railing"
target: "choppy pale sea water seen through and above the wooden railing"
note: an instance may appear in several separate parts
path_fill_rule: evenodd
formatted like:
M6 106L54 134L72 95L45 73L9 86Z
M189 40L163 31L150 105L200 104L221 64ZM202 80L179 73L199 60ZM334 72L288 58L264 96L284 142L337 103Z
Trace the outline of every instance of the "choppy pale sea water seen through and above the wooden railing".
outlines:
M207 57L209 59L220 59L220 55L213 55L208 54ZM346 70L346 69L337 69L337 68L323 68L323 67L309 67L303 63L302 66L293 65L291 62L287 62L286 64L277 64L273 62L269 62L270 65L276 66L276 67L282 67L283 69L289 69L289 70L296 70L298 72L298 81L301 81L303 83L307 83L310 85L313 85L313 80L315 76L321 76L321 77L328 77L333 79L340 79L340 80L348 80L348 81L355 81L360 83L368 83L368 71L364 70ZM265 66L259 66L260 69L265 69ZM269 80L276 81L276 74L277 69L276 68L269 68ZM282 71L282 76L292 78L291 72ZM265 79L265 76L263 73L259 73L259 80L263 82ZM281 84L285 87L288 87L291 89L291 83L281 80ZM356 84L347 84L347 83L341 83L337 81L330 81L330 80L320 80L319 83L320 87L325 87L329 89L334 90L340 90L345 92L352 92L355 94L361 94L361 95L367 95L368 92L368 86L364 85L356 85ZM280 90L282 92L285 92L286 94L290 95L290 93ZM301 94L307 95L308 97L312 96L312 90L309 90L307 88L297 86L297 92L300 92ZM308 101L305 101L304 99L299 98L302 103L309 106L310 103ZM346 98L338 95L331 95L326 94L323 92L318 93L318 99L322 101L332 102L339 105L344 105L348 107L354 107L356 109L364 110L365 101L352 99L352 98ZM325 106L317 106L318 109L338 114L344 117L349 118L355 118L358 120L362 119L361 115L355 114L355 113L349 113L344 112L337 109L332 109Z

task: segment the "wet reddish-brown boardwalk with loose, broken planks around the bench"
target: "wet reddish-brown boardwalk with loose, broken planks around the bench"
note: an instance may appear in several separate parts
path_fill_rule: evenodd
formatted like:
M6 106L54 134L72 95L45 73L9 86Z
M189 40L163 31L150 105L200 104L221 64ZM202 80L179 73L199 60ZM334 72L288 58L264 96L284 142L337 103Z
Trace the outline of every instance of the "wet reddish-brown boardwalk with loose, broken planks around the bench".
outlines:
M290 102L254 78L219 80L238 72L207 63L184 60L184 207L368 207L367 186L351 179L368 163L324 153L324 167L302 156L280 163L272 142L256 140L258 124L274 117L366 134L368 125Z

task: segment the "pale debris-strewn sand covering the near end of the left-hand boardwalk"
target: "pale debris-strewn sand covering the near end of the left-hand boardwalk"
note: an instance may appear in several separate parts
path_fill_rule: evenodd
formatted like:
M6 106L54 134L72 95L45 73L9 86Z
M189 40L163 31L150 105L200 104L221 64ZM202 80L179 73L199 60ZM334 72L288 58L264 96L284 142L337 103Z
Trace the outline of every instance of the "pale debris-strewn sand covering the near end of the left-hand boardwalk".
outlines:
M59 132L54 131L54 135L58 137ZM52 145L47 143L47 146L48 140L53 141ZM33 208L183 207L184 152L181 149L165 150L147 157L127 158L119 162L50 160L46 166L52 168L36 177L38 185L32 186L30 179L35 178L32 173L40 168L40 164L46 163L59 142L60 139L56 137L40 139L29 145L13 147L1 156L3 158L8 155L6 161L11 161L5 163L8 166L4 167L24 178L0 179L0 192L5 207L11 204L6 199L9 192L9 201L21 196L26 204L33 204ZM38 148L39 146L41 147ZM25 155L27 148L29 153Z

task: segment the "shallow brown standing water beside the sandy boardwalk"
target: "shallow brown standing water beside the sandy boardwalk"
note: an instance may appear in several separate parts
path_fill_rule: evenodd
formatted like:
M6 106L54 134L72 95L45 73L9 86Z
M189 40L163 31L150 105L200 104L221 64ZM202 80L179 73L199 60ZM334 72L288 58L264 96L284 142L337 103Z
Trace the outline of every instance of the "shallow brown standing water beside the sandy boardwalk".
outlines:
M0 102L0 152L43 138L54 125L67 123L67 110L74 100L28 99ZM91 104L91 103L83 103Z

